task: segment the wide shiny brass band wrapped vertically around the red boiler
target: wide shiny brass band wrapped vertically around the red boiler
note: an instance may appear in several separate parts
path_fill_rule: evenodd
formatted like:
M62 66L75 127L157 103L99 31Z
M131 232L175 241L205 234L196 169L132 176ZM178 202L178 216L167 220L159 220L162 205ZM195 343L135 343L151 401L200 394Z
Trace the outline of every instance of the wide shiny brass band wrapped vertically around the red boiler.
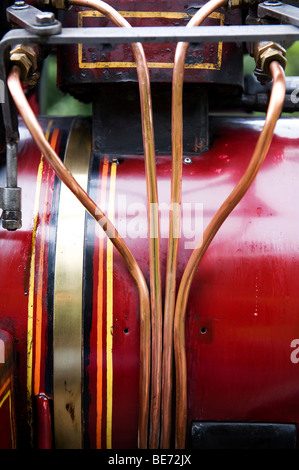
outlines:
M73 123L65 165L87 189L90 132ZM53 393L56 448L82 448L82 288L85 209L61 186L54 281Z

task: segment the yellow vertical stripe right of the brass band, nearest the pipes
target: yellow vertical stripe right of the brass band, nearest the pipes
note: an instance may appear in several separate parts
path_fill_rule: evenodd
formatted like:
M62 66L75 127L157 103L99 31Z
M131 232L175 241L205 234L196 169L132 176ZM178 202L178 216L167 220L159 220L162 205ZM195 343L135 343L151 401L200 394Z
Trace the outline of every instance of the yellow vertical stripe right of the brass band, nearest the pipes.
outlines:
M116 163L111 165L108 218L113 222L115 201ZM107 423L106 447L112 449L112 406L113 406L113 244L107 240Z

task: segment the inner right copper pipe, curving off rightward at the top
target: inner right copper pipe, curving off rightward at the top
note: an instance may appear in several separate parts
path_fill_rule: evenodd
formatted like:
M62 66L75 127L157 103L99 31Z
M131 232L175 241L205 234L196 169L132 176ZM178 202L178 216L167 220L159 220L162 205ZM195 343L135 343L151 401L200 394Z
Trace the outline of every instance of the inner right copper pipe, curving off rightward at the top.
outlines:
M199 26L214 10L226 4L226 0L211 0L192 17L187 28ZM177 257L181 223L181 186L183 160L183 81L185 58L189 43L179 42L176 48L172 83L172 174L171 208L163 329L162 362L162 414L161 444L169 448L171 433L171 397L173 368L173 321L176 296Z

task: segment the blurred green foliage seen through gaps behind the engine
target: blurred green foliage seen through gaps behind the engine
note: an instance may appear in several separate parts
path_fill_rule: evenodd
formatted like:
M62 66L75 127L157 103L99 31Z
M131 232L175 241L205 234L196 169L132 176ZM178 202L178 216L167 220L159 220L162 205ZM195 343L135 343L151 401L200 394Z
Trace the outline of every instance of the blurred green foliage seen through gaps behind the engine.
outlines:
M299 41L287 51L286 75L299 76ZM244 74L252 73L255 68L252 57L244 57ZM56 116L91 115L91 105L80 103L72 96L62 94L56 87L56 57L50 56L45 64L41 79L41 114Z

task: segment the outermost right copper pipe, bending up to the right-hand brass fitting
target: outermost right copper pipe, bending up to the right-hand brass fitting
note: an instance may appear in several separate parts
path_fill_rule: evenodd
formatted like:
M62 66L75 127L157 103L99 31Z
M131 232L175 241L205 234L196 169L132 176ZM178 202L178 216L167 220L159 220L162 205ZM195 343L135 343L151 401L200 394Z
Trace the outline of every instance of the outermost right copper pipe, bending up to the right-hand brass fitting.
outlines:
M270 64L273 86L263 130L257 141L250 163L239 183L218 209L203 234L202 243L194 249L183 273L175 308L174 343L176 364L176 448L184 448L187 422L187 363L185 350L185 315L194 274L217 231L240 202L269 150L274 128L280 116L285 97L285 76L281 65Z

